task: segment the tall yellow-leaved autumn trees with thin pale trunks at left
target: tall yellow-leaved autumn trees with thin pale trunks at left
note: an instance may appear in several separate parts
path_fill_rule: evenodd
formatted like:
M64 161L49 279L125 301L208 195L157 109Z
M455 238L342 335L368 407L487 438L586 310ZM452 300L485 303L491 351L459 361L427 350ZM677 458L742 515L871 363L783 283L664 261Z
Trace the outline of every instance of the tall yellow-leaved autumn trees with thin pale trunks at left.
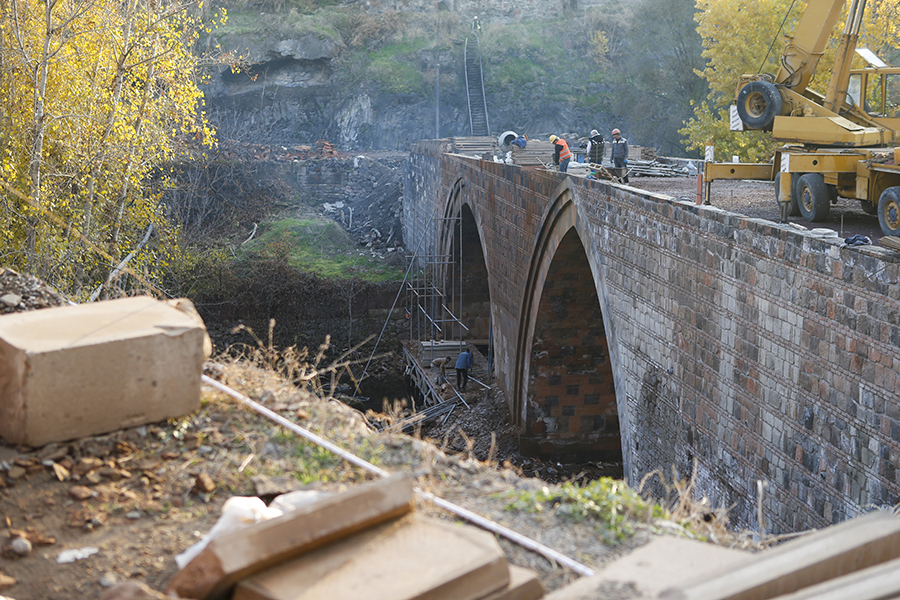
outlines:
M0 3L0 264L77 298L135 250L145 282L165 268L174 237L148 178L215 143L196 8Z

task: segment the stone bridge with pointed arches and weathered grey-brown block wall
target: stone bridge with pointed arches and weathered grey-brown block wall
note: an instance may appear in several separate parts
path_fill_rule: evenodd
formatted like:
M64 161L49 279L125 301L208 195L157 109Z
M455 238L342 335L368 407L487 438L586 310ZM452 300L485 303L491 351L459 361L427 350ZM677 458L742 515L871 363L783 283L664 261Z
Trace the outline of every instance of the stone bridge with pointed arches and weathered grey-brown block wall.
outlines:
M771 533L900 498L900 255L609 182L410 153L406 243L446 285L522 449L624 459Z

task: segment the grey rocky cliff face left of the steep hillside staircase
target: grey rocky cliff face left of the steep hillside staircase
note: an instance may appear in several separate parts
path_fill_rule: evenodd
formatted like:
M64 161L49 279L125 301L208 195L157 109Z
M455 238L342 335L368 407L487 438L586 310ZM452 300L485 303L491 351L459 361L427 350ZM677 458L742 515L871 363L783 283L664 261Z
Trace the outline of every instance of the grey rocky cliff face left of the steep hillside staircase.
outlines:
M327 35L232 35L219 42L248 63L223 69L206 88L207 111L221 139L266 140L285 146L327 139L342 150L402 149L435 137L434 97L380 92L349 83L339 60L344 44ZM423 56L427 69L433 56ZM461 68L461 67L460 67ZM455 74L445 74L442 129L460 132L467 113Z

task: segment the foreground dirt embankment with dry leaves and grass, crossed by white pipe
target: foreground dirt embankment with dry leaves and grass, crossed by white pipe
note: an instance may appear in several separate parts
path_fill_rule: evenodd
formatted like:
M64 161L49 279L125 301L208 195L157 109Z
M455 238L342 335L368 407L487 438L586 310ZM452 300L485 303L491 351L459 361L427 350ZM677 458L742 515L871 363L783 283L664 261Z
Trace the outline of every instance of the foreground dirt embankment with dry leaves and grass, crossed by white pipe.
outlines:
M579 501L570 504L558 486L523 477L509 465L480 462L470 452L445 452L415 437L377 433L357 411L303 392L251 361L218 364L208 373L388 471L414 474L420 488L591 568L644 543L657 528L658 516L621 484L591 492L615 494L609 499L617 511L612 521L590 511L579 517L572 510ZM175 555L212 527L226 499L268 501L301 488L336 492L371 477L209 390L192 415L44 448L0 444L0 461L6 467L0 475L0 593L16 600L92 599L125 579L164 589L176 572ZM416 508L451 518L426 502ZM667 528L690 526L702 536L708 510L700 507L693 518L682 515ZM743 544L727 534L724 522L715 524L725 535L720 539ZM16 539L27 540L28 549L14 550ZM501 543L512 564L537 571L550 590L576 578L530 551ZM66 562L66 554L73 553L80 558Z

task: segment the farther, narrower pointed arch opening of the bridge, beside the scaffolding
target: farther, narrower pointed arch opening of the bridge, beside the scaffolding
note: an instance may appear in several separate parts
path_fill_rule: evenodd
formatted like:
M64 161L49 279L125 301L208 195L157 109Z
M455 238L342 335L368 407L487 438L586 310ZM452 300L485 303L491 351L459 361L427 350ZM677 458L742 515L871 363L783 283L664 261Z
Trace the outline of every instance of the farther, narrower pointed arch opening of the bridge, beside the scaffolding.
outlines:
M465 197L465 182L456 181L448 196L440 227L439 256L443 292L450 312L465 327L448 323L445 339L487 346L491 337L490 273L477 209ZM482 348L489 354L489 348Z

